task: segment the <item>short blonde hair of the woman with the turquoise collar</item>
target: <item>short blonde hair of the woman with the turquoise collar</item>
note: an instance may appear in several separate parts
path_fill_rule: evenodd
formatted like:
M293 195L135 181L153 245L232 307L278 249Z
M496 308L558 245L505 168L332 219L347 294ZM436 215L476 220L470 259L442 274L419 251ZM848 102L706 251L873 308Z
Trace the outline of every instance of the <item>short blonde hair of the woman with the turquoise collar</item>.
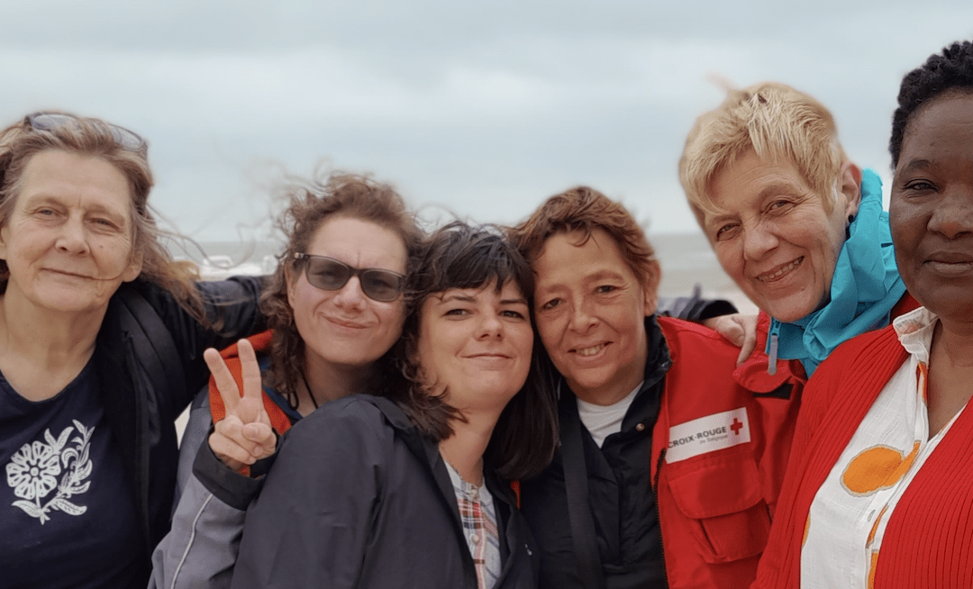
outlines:
M689 132L679 180L700 225L705 214L719 214L713 180L750 150L770 161L793 162L831 212L835 183L847 161L834 118L808 94L763 82L731 89L723 104L701 115Z

